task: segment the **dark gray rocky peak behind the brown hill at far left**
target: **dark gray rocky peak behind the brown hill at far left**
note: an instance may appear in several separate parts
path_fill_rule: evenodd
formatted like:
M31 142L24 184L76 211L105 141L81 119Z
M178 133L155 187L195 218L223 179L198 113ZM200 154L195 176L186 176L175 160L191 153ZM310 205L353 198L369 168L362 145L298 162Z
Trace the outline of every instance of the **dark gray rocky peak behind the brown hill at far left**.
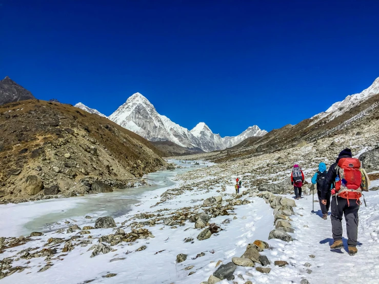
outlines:
M35 98L31 92L6 76L0 80L0 105Z

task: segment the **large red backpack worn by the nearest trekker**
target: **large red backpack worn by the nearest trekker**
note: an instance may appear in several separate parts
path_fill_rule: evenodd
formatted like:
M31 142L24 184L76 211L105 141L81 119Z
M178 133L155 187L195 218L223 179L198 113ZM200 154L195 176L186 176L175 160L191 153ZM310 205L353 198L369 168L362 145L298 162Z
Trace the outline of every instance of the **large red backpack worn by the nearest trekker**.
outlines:
M340 180L335 182L336 195L358 200L362 197L361 162L357 158L342 158L338 161L337 174Z

